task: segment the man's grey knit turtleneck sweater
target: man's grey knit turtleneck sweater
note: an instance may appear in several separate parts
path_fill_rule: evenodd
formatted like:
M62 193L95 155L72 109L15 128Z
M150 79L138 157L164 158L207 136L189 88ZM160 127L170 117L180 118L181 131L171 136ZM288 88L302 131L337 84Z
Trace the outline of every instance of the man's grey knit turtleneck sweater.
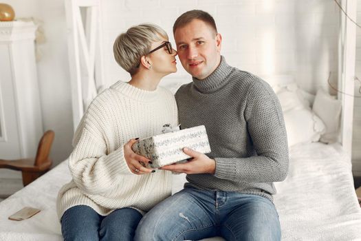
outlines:
M221 63L204 80L175 94L182 129L205 125L215 174L187 175L185 187L238 191L272 200L273 182L285 179L288 147L281 105L270 85Z

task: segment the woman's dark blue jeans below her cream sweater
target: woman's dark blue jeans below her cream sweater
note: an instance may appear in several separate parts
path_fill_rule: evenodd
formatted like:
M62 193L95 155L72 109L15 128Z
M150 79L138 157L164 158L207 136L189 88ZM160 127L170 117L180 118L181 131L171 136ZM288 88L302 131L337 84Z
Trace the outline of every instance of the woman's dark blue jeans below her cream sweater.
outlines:
M142 214L129 207L100 216L94 209L78 205L61 217L61 233L67 240L133 240Z

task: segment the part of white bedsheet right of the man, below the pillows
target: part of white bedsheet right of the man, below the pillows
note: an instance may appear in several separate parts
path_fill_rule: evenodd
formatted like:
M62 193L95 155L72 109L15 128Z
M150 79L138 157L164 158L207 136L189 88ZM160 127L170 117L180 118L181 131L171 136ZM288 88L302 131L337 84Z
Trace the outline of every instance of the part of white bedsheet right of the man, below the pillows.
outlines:
M293 147L289 174L276 189L283 240L361 240L361 208L340 145Z

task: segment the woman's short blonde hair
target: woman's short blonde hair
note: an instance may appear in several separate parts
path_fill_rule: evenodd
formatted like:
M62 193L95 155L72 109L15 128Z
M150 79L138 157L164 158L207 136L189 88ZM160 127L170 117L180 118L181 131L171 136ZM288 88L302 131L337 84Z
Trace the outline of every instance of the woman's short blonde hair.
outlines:
M154 41L168 40L168 35L159 26L143 23L120 34L113 45L114 58L124 70L136 74L140 58L151 51Z

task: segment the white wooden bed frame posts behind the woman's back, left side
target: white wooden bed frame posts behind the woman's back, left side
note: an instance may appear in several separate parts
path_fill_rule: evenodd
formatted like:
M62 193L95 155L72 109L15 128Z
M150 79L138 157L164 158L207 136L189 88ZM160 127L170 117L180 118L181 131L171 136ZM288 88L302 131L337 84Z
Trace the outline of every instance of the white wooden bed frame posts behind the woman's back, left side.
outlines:
M100 9L100 0L65 0L74 132L105 84Z

